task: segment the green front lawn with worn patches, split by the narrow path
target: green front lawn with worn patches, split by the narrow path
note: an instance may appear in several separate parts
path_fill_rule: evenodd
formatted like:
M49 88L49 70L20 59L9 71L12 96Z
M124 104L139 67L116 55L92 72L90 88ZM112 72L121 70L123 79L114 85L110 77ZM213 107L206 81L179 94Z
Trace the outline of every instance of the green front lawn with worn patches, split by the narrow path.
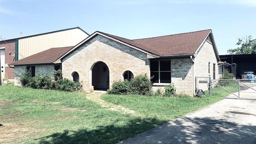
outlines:
M221 100L220 97L167 98L103 95L103 100L136 111L122 114L82 92L0 86L2 144L113 144L173 118Z

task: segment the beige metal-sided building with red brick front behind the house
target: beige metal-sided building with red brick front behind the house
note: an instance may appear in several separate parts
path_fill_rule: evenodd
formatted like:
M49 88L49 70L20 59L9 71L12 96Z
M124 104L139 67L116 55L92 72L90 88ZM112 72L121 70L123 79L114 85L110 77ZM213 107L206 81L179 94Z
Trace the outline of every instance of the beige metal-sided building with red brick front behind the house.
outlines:
M30 36L0 40L1 79L14 81L14 68L9 65L49 48L75 46L89 34L79 27L56 30Z

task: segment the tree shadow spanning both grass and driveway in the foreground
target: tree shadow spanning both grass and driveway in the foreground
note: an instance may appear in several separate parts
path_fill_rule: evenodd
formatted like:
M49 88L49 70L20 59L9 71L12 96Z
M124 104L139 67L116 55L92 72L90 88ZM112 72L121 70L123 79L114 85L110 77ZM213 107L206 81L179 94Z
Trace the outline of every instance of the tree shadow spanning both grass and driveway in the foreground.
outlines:
M188 117L177 118L153 128L156 123L161 122L156 119L134 119L127 126L110 125L98 127L97 130L93 131L65 130L62 133L54 133L40 138L39 144L115 144L126 138L129 139L120 142L120 144L256 143L256 126L238 125L234 122L212 118Z

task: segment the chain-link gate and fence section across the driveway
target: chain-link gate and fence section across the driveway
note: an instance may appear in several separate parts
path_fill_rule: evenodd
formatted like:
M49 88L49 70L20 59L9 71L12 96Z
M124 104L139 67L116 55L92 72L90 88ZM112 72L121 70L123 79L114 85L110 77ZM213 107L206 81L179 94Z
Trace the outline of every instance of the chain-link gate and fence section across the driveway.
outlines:
M210 96L256 99L256 80L212 80L211 77L196 77L196 90L199 89L209 90Z

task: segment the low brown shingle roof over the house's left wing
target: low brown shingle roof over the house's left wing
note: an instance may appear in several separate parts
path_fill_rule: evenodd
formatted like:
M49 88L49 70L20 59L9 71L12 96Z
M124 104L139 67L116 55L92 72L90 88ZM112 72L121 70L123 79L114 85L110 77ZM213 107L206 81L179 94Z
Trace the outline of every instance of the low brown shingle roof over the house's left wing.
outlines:
M43 52L39 52L32 56L28 56L21 60L17 60L9 65L21 65L21 64L43 64L43 63L53 63L58 58L66 54L69 50L71 50L74 46L68 46L63 48L50 48Z

